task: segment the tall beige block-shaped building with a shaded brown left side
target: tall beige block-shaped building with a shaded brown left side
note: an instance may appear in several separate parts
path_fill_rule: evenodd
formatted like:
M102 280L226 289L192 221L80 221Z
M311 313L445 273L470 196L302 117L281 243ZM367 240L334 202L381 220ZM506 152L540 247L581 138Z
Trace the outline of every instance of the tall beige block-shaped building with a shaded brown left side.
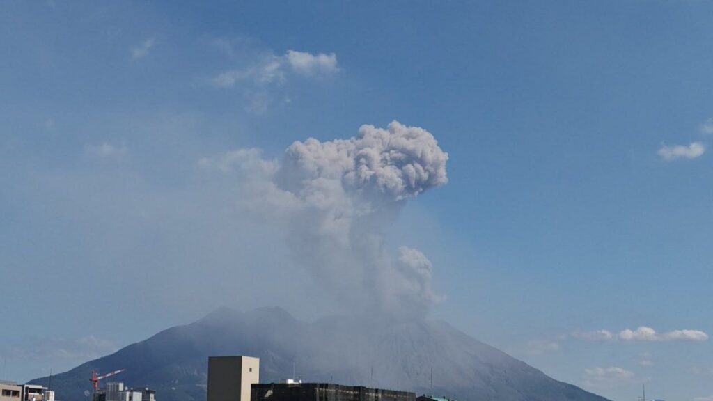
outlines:
M250 401L251 385L260 382L256 357L209 357L207 401Z

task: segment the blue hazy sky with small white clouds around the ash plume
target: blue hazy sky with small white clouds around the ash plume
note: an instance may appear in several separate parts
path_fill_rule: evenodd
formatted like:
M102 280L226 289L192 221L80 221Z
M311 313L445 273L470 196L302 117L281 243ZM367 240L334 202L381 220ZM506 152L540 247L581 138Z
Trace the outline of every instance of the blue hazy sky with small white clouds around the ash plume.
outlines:
M449 156L385 234L431 260L431 318L613 400L713 400L713 4L0 6L0 378L220 305L339 312L198 161L398 120ZM251 293L275 277L304 290Z

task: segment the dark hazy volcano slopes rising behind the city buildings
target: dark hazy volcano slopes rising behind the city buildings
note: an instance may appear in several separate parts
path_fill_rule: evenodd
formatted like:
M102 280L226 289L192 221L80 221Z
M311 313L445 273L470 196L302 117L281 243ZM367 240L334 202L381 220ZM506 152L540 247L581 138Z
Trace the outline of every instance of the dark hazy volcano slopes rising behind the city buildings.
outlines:
M260 357L262 382L291 376L294 362L307 382L373 383L422 393L429 392L433 367L434 392L459 401L606 401L447 323L384 323L346 316L305 323L279 308L247 313L221 308L56 375L52 387L58 399L78 401L89 387L90 370L126 367L116 380L153 387L160 401L203 401L210 355ZM48 378L31 382L46 385Z

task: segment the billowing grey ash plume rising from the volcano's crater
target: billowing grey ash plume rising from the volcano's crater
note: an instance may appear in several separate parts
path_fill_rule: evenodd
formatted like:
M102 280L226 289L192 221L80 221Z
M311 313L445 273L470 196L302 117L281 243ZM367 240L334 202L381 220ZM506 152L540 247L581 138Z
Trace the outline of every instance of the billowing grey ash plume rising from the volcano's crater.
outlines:
M242 205L286 233L294 260L356 313L421 318L440 297L421 251L382 236L408 198L448 181L448 154L431 133L396 121L349 139L292 143L280 160L256 149L203 159L240 173Z

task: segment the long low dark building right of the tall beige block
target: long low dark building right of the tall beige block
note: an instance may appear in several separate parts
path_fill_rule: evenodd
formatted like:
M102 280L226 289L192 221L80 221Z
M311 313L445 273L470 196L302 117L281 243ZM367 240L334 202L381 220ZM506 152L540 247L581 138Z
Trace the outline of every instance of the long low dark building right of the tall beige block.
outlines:
M382 390L332 383L272 383L252 385L250 401L415 401L414 392Z

